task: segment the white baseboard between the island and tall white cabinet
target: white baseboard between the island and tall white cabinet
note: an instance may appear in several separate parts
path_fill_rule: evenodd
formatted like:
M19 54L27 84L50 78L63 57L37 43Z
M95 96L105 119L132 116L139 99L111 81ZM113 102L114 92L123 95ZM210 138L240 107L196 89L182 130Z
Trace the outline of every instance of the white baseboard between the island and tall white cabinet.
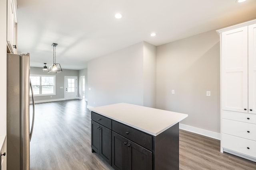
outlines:
M208 130L205 130L205 129L200 129L198 127L184 125L184 124L181 124L181 123L180 123L180 129L220 140L220 133L216 133L216 132L213 132L213 131L208 131Z

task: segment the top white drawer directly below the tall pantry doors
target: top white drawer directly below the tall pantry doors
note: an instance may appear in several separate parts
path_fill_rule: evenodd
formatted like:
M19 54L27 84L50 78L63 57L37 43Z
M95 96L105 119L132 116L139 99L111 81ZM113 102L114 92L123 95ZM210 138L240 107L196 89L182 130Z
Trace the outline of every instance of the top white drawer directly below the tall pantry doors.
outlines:
M222 110L222 118L256 124L256 114Z

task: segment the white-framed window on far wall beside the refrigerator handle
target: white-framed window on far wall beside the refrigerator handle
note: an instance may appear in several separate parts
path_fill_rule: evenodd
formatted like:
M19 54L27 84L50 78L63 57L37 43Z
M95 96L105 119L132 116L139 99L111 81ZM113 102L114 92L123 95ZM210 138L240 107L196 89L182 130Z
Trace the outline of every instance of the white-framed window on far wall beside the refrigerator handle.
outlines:
M30 80L35 96L55 95L56 76L30 75ZM31 90L30 90L31 95Z

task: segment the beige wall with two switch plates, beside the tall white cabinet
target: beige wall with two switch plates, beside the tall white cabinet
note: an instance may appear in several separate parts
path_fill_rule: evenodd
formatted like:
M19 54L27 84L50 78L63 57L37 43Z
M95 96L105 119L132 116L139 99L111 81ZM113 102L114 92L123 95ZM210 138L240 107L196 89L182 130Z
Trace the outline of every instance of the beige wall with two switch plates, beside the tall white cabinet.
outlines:
M188 114L182 124L220 133L220 37L215 30L157 47L156 107Z

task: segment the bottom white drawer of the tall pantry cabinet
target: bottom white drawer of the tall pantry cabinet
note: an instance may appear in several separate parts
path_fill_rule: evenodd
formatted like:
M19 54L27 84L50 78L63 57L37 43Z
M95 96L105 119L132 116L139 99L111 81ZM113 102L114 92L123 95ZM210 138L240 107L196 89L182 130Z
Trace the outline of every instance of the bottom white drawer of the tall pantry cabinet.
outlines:
M222 134L222 147L256 158L256 141Z

